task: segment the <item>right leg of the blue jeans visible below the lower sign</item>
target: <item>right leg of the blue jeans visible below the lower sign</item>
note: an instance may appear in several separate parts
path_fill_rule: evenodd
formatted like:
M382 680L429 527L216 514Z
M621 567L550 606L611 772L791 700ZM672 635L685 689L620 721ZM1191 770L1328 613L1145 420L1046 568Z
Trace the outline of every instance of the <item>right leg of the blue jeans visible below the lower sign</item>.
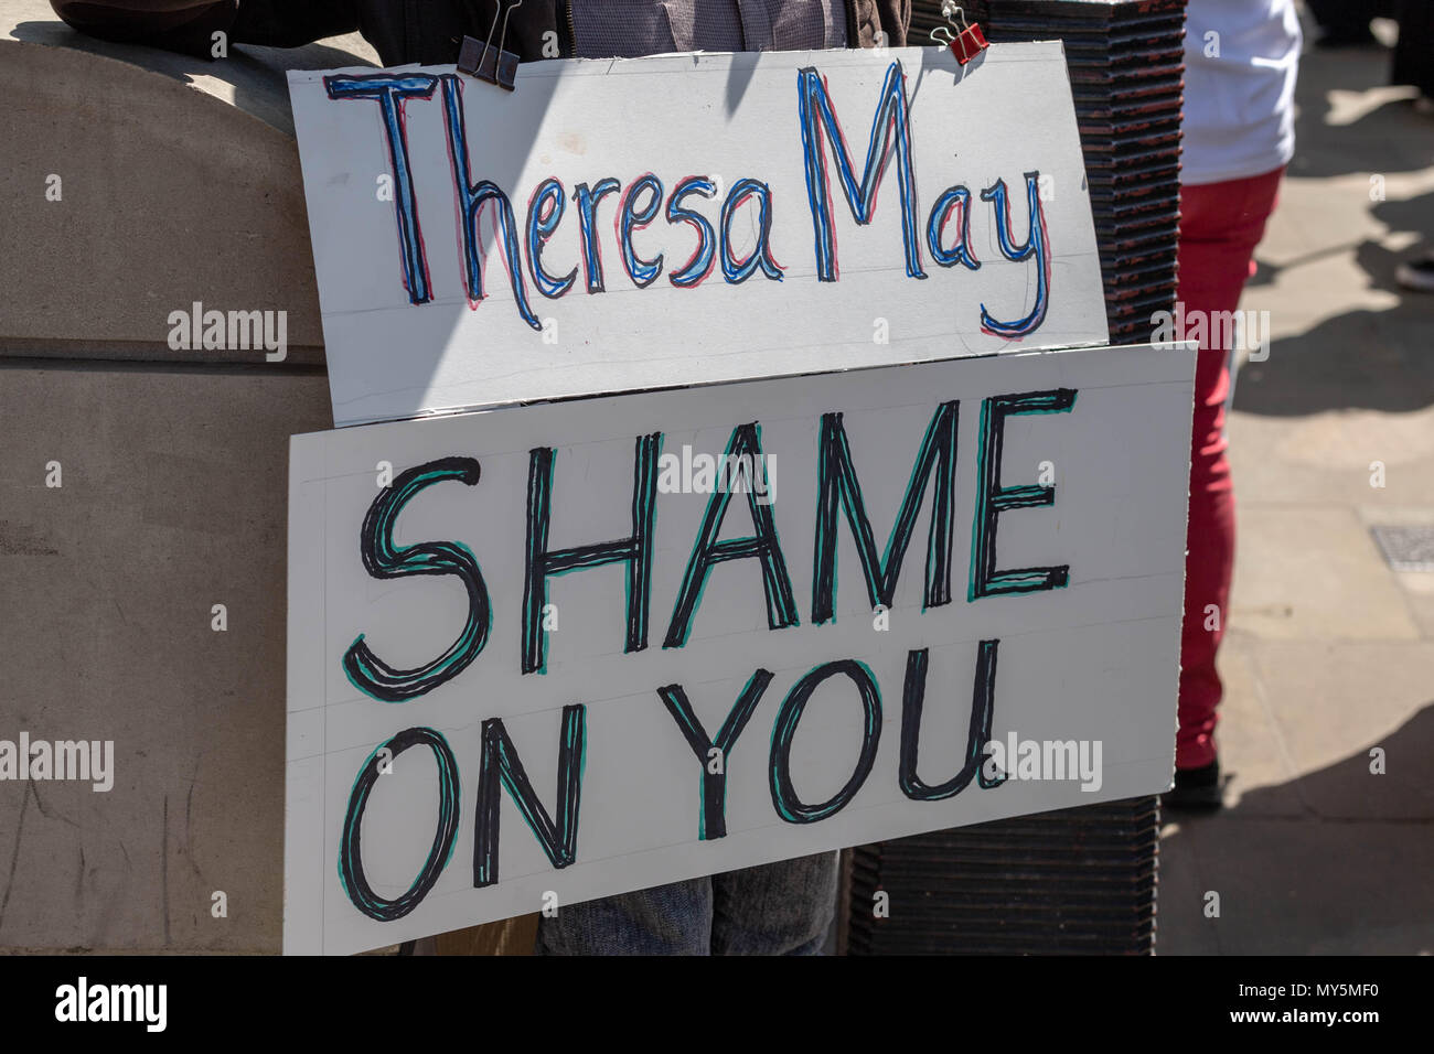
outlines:
M713 875L713 955L820 955L836 909L836 853Z

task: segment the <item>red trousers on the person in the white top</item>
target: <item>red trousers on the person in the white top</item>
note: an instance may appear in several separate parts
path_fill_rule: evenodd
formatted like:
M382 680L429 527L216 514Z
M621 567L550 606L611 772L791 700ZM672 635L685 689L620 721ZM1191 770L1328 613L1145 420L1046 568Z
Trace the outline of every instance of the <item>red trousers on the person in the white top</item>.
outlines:
M1275 208L1283 169L1248 179L1180 188L1180 285L1186 330L1193 313L1235 311L1253 274L1255 247ZM1235 490L1225 457L1225 400L1230 390L1228 331L1206 314L1195 370L1190 440L1190 526L1184 562L1184 627L1180 635L1180 730L1177 769L1215 760L1220 675L1215 651L1225 635L1235 568ZM1216 340L1212 344L1210 337Z

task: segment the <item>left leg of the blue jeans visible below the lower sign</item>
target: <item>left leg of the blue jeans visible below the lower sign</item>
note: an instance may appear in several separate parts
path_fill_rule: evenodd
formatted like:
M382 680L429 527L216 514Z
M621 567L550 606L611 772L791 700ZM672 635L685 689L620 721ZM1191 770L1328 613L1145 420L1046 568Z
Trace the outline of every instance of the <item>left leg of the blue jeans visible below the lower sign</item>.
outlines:
M707 955L710 878L562 905L538 919L538 955Z

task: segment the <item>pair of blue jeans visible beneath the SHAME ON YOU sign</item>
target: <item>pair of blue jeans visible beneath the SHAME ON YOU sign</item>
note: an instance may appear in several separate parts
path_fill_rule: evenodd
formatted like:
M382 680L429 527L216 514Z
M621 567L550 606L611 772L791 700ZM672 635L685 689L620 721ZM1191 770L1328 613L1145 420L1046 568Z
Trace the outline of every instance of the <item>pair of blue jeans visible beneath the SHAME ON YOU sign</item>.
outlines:
M836 853L564 905L538 921L538 955L820 955Z

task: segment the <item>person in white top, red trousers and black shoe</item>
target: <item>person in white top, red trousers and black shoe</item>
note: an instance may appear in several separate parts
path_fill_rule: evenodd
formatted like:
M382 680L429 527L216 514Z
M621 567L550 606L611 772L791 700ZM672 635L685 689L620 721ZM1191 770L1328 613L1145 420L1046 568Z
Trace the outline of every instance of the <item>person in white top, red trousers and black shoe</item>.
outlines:
M1184 34L1184 151L1180 174L1180 280L1186 331L1203 318L1195 371L1180 727L1166 803L1220 806L1215 749L1220 675L1215 654L1229 614L1235 493L1225 414L1235 347L1223 324L1253 274L1255 247L1295 152L1301 49L1293 0L1190 0Z

